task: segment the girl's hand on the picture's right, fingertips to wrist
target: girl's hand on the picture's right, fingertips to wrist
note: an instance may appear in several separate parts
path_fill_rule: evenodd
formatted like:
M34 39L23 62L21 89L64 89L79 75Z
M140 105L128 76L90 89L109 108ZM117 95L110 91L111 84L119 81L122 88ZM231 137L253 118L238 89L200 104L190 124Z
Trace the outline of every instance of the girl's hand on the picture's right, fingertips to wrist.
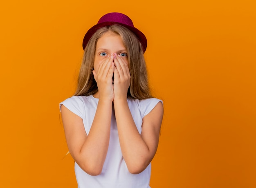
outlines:
M114 100L127 98L128 88L130 86L130 71L128 67L127 57L121 57L120 55L114 54Z

